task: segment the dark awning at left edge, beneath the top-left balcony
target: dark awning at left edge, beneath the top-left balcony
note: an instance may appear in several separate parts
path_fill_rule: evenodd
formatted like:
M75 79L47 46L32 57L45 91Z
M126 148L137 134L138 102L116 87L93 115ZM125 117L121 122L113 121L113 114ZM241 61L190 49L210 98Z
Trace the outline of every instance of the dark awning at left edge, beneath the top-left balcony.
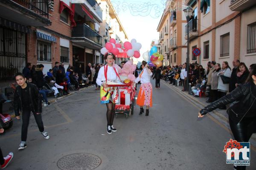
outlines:
M24 33L31 33L31 29L28 28L27 26L23 26L21 24L12 22L10 20L6 20L4 18L0 17L0 26L6 27L6 28L10 28L13 29L15 31L20 31L20 32L24 32Z

